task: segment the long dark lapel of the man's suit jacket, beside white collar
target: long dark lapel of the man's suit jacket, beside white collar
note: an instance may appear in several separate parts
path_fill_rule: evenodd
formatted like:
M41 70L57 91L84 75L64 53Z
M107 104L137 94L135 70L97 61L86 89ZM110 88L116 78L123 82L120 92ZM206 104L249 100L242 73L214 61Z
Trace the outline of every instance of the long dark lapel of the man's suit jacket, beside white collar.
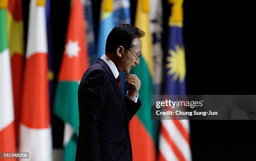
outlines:
M126 120L128 121L128 113L127 113L126 108L125 108L125 102L124 102L124 99L123 99L123 95L122 95L122 92L121 92L121 90L118 86L118 82L116 81L113 72L111 71L110 67L108 67L108 64L104 60L99 58L99 59L97 59L96 62L101 64L105 68L107 73L110 75L110 82L113 85L113 87L115 89L115 93L117 94L118 99L120 100L120 102L122 104L122 107L123 107L123 110L124 110L124 113L125 113L125 116L126 116Z

